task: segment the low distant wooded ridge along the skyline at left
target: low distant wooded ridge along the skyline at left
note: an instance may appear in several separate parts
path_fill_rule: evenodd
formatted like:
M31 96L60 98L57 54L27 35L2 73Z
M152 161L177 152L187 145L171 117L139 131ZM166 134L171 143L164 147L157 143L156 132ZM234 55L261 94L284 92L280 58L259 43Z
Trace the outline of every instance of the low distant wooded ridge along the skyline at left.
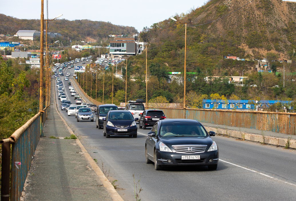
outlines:
M61 33L72 40L86 37L94 39L106 38L109 34L135 34L134 27L113 25L110 22L91 20L56 19L49 22L50 31ZM44 24L45 29L45 24ZM18 30L40 30L40 20L24 20L0 14L0 33L14 35Z

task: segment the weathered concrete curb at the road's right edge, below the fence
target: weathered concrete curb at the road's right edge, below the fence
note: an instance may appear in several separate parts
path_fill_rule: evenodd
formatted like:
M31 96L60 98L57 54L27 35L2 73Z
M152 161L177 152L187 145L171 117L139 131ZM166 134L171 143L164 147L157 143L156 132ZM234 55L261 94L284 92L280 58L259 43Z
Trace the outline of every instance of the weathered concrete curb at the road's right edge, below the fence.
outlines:
M251 134L247 132L240 132L236 130L230 129L221 129L221 128L214 128L214 127L205 127L207 131L214 131L217 134L226 135L229 137L235 137L243 140L248 140L252 142L260 142L269 145L276 145L281 147L289 147L292 149L296 149L296 140L292 140L289 138L279 138L279 137L272 137L272 136L264 136L258 134Z

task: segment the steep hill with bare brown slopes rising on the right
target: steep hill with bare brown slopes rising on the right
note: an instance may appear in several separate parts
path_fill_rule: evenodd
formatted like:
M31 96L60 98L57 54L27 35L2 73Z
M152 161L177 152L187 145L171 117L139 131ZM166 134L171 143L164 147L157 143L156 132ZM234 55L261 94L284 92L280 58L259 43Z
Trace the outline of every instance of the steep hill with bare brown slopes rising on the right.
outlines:
M174 16L179 22L192 21L187 24L189 70L223 68L222 56L229 54L248 59L267 55L270 59L292 59L296 48L296 3L253 0L236 11L248 2L210 0L188 14ZM168 19L145 27L140 34L150 47L157 46L151 48L150 58L163 60L172 71L182 69L179 64L184 60L183 25Z

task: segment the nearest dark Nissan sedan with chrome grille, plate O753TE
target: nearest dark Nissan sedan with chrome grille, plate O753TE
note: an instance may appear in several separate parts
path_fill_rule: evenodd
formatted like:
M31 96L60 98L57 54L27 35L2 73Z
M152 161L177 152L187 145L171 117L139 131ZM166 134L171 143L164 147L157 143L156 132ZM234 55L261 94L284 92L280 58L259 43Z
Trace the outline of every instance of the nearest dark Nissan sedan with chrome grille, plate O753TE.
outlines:
M194 165L217 169L217 144L202 124L192 119L158 121L148 133L145 143L146 163L154 162L155 170L163 166Z

